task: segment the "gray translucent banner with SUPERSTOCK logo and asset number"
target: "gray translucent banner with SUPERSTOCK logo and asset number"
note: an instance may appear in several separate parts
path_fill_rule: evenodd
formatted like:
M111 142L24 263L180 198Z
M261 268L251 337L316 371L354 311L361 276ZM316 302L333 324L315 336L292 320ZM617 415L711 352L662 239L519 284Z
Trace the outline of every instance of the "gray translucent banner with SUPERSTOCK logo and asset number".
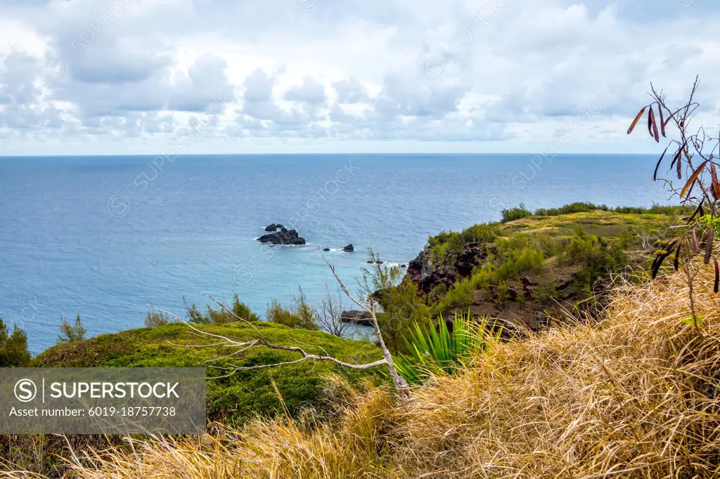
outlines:
M0 434L204 432L204 368L0 368Z

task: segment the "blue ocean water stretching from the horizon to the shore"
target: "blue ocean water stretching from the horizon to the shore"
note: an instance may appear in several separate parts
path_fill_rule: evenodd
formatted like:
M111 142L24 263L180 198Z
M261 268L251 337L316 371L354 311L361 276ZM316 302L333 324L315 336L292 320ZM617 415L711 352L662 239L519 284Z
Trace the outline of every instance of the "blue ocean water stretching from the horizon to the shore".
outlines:
M0 158L0 317L32 352L60 315L89 334L143 327L148 305L184 315L237 292L259 314L299 285L354 288L372 247L407 263L428 235L571 201L664 204L652 155L204 155ZM265 247L266 224L304 247ZM339 249L348 243L356 252Z

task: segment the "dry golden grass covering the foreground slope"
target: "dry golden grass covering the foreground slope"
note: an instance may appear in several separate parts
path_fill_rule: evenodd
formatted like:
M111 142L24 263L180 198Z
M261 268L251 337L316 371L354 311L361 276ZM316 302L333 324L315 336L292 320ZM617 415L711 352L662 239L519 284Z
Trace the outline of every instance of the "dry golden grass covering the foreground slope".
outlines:
M607 319L493 345L396 405L374 389L332 424L135 444L80 478L720 477L720 309L680 276L618 292Z

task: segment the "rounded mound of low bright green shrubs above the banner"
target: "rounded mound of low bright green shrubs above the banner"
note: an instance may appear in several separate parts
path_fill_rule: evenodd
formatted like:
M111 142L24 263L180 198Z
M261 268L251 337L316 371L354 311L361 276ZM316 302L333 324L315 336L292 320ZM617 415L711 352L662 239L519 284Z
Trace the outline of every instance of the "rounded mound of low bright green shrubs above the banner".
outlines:
M279 324L258 321L255 326L269 342L280 345L301 345L308 352L323 354L327 351L342 360L369 362L382 358L382 353L369 342L351 341L317 331L289 329ZM203 331L222 334L236 340L256 338L253 330L243 324L197 326ZM34 367L109 367L109 368L163 368L163 367L209 367L227 366L230 360L209 364L205 361L229 355L233 350L226 347L184 347L217 343L194 334L182 323L166 326L132 329L117 334L102 334L86 341L57 345L32 359ZM294 352L268 350L258 347L232 361L235 365L248 366L296 360ZM227 374L228 371L208 368L208 376ZM228 378L207 382L207 414L210 421L223 420L238 424L248 417L259 414L272 416L282 411L276 386L285 406L293 415L303 408L323 407L325 377L340 374L357 384L364 378L379 380L380 368L354 371L329 363L301 362L281 368L238 371Z

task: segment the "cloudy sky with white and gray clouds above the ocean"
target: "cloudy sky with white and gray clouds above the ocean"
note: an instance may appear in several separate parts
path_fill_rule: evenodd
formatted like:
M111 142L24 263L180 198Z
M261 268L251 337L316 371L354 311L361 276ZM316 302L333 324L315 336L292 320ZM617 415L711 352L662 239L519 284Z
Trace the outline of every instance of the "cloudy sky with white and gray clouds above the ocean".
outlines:
M0 0L0 155L654 152L716 0Z

